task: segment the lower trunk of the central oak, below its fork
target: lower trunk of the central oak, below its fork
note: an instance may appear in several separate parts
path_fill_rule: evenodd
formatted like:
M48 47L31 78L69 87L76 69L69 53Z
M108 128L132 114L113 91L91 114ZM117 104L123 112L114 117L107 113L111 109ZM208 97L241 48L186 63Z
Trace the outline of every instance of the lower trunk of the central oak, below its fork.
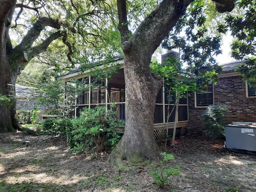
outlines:
M154 108L162 78L153 77L136 54L124 58L126 83L126 128L116 154L123 160L151 160L159 155L154 138Z

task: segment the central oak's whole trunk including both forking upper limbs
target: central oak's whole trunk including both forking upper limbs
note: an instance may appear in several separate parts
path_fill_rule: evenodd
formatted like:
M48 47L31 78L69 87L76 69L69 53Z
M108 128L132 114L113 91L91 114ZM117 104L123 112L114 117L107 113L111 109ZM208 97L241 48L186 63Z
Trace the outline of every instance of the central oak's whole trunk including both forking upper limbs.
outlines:
M150 60L192 1L163 0L131 34L127 25L126 0L118 0L118 29L124 51L126 126L124 136L110 155L111 164L116 163L115 158L156 160L159 156L154 139L154 109L162 78L151 74Z

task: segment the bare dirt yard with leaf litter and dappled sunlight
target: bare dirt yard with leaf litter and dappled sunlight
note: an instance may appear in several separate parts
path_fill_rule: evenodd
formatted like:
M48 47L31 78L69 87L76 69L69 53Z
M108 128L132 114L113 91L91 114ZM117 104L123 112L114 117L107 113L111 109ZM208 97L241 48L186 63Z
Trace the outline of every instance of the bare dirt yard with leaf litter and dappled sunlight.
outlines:
M107 153L73 154L64 137L0 134L0 192L256 191L256 156L226 151L224 140L215 144L184 136L177 141L167 152L174 154L170 164L181 174L159 189L150 174L154 168L120 172L106 164Z

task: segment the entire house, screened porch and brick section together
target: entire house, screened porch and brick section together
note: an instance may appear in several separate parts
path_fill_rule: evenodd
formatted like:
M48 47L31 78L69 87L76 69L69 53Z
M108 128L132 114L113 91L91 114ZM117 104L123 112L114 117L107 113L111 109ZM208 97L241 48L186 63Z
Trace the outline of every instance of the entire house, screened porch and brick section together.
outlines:
M176 56L175 52L170 52L162 56L162 61L167 56ZM123 59L116 58L113 64L121 65L118 73L114 74L111 79L105 79L108 82L108 87L98 86L84 90L82 95L78 96L74 104L72 116L79 116L79 111L84 107L95 108L97 105L108 106L110 103L115 103L117 118L125 120L126 102L125 102L125 84L124 84L124 69ZM110 66L113 66L110 64ZM209 84L204 88L204 92L194 93L189 92L188 98L180 99L178 108L178 134L183 134L184 127L186 131L196 134L204 134L202 127L202 112L211 104L226 104L230 110L227 118L227 123L233 121L250 121L256 122L256 89L250 88L248 82L243 82L242 77L238 72L234 72L236 65L241 62L232 62L223 65L223 72L219 76L219 81L216 85ZM100 67L100 64L98 64ZM80 72L74 70L62 78L68 82L75 78L80 81L86 81L90 84L95 79L90 76L90 71ZM171 103L169 110L172 110L174 103ZM167 119L168 101L164 87L160 88L155 106L154 114L154 136L156 140L163 140L166 137L166 119ZM173 132L174 116L169 118L168 133Z

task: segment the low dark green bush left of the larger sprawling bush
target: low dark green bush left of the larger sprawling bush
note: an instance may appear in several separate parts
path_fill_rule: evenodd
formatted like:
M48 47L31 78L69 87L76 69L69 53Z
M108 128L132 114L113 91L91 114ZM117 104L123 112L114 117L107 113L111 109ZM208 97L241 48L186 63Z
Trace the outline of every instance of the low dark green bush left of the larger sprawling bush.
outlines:
M49 135L65 136L72 130L70 119L47 118L42 123L43 130Z

